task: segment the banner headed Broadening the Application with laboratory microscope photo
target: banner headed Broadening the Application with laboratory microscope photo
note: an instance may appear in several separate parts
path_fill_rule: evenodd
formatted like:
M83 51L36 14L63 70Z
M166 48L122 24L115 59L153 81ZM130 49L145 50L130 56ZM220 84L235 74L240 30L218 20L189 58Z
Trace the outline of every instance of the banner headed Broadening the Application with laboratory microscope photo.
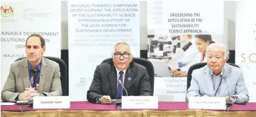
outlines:
M175 77L171 70L187 72L201 61L195 35L223 42L223 4L222 0L147 1L148 60L155 68L154 93L159 101L185 101L187 75Z

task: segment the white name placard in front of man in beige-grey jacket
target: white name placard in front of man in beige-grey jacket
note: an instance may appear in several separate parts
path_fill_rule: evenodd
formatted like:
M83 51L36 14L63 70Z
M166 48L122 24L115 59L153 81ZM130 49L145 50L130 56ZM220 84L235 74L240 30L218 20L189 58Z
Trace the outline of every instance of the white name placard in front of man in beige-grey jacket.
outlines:
M69 109L69 97L33 97L33 109Z

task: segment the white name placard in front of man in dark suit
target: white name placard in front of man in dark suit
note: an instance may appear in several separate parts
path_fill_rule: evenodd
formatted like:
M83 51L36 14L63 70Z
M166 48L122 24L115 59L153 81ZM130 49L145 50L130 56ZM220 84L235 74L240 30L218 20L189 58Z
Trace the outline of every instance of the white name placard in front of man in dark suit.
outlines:
M122 109L158 109L157 96L123 96Z

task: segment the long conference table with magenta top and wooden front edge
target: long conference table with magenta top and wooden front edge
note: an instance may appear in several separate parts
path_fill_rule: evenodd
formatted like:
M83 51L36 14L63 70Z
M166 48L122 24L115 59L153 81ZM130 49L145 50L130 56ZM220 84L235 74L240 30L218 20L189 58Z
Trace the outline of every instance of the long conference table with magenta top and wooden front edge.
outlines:
M115 104L90 104L88 101L72 101L69 109L33 109L31 107L1 105L1 116L252 116L256 117L256 103L233 104L226 110L188 109L188 102L160 101L158 109L122 109Z

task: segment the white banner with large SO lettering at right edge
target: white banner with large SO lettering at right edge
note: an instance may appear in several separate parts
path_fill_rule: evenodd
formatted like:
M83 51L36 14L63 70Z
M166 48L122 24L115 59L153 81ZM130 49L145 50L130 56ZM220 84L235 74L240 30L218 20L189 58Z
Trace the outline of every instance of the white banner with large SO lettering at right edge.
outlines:
M256 102L256 1L237 1L235 63L243 69L250 102Z

